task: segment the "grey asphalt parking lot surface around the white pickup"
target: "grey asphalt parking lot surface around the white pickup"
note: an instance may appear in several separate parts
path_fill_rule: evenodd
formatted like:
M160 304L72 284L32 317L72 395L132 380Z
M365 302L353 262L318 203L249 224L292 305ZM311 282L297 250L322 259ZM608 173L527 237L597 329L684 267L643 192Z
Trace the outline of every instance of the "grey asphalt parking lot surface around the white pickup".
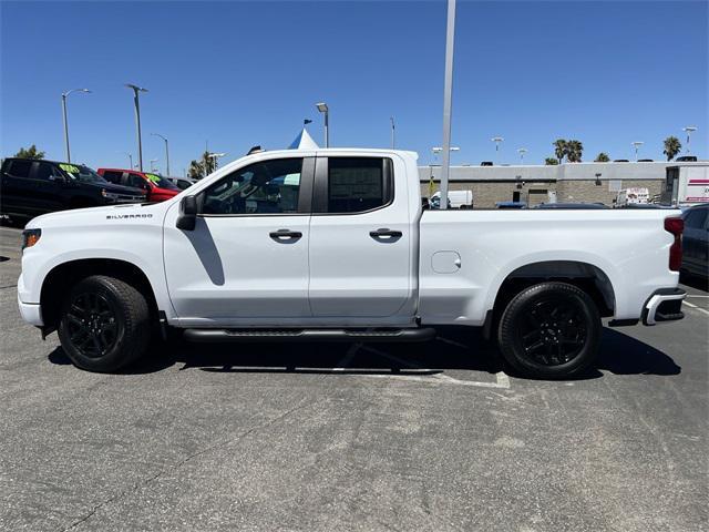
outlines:
M475 337L156 344L72 367L0 228L0 530L709 530L709 295L605 329L597 369L502 372Z

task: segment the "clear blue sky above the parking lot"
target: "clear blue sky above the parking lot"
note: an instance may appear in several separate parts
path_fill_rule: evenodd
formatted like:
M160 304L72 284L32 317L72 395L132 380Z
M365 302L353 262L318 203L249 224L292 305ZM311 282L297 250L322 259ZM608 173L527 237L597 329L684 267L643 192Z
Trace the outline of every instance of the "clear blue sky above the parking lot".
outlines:
M709 156L708 2L458 2L453 164L542 162L557 137L660 160L667 135ZM432 160L442 137L445 2L0 2L1 155L35 143L64 158L60 94L74 161L137 156L131 91L142 96L143 160L169 139L173 174L204 151L238 158L287 146L314 104L331 109L335 146L390 143Z

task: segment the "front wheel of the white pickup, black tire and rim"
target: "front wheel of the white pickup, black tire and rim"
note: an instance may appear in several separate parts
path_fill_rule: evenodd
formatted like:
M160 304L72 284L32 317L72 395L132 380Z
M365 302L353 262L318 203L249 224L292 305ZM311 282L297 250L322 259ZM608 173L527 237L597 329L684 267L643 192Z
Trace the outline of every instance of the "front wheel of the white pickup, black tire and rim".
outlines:
M58 332L74 366L116 371L145 352L151 337L147 301L120 279L86 277L63 301Z

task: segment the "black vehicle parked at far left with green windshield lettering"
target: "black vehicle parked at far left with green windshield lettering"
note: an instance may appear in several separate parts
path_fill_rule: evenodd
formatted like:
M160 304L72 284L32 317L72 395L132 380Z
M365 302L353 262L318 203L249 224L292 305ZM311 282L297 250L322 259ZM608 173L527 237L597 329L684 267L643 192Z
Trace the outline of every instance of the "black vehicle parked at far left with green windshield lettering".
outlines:
M33 218L66 208L144 201L144 191L109 183L83 164L14 157L2 163L0 214Z

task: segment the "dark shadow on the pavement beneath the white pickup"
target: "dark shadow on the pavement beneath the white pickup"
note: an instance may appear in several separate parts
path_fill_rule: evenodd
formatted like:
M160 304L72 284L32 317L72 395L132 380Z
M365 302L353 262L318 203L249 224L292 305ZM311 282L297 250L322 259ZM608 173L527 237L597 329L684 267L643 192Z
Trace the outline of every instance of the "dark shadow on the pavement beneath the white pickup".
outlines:
M52 364L71 364L61 347L49 355ZM198 369L234 374L317 375L412 375L431 376L451 370L486 374L515 372L504 365L491 344L480 334L441 330L424 344L189 344L183 340L155 341L147 355L126 368L124 375L161 371L174 365L181 370ZM619 332L604 328L600 351L594 368L574 380L614 375L679 375L681 368L667 354Z

